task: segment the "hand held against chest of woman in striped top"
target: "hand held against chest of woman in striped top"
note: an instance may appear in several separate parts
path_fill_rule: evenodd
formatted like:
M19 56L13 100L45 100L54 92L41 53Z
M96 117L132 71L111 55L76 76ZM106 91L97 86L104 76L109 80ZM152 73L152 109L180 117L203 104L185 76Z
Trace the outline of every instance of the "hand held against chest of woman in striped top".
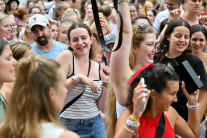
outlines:
M86 85L88 85L93 92L98 91L98 86L97 84L90 78L86 77L85 75L79 74L80 75L80 81Z

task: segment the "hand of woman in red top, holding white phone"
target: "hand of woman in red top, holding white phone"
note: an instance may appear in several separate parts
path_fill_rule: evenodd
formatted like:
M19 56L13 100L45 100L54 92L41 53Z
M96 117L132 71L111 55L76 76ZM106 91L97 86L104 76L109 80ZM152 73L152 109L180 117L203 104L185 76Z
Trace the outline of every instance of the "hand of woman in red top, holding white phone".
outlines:
M145 92L146 95L141 94L142 92ZM143 112L145 111L147 101L149 99L150 90L146 89L146 86L143 86L141 82L137 85L136 88L134 88L134 95L133 95L133 113L132 115L136 119L140 119ZM146 98L144 103L144 109L142 109L142 98Z

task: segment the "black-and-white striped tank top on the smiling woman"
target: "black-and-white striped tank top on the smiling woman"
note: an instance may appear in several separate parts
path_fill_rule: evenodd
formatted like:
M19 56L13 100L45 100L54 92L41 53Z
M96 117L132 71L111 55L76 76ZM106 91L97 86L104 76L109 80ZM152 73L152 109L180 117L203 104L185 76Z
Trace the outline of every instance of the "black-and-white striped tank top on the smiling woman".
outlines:
M96 100L101 96L102 93L102 81L94 80L94 82L98 85L99 88L97 93L93 92L88 85L85 85L83 83L78 83L67 93L66 99L64 101L64 106L69 101L80 95L86 87L83 95L69 108L67 108L60 115L60 117L70 119L89 119L99 114Z

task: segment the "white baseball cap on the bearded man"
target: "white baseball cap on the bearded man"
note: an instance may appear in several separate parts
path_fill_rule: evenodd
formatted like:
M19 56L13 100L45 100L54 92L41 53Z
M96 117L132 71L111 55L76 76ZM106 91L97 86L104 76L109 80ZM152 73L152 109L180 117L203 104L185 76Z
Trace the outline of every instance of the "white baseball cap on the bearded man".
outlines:
M49 21L48 18L45 17L44 15L35 14L29 19L28 25L29 25L29 29L31 30L34 25L41 25L45 27L49 25Z

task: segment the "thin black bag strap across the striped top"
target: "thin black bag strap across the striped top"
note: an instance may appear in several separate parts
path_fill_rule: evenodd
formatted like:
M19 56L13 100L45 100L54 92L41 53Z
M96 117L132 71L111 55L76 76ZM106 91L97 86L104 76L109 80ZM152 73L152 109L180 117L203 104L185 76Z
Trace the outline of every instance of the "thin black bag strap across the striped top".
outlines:
M89 73L90 73L90 70L91 70L91 60L89 60L89 67L88 67L88 74L87 74L87 77L89 77ZM85 92L86 90L86 87L85 89L83 90L83 92L81 94L79 94L78 96L76 96L73 100L71 100L70 102L68 102L64 107L63 109L58 113L58 116L64 112L68 107L70 107L72 104L74 104L82 95L83 93Z

